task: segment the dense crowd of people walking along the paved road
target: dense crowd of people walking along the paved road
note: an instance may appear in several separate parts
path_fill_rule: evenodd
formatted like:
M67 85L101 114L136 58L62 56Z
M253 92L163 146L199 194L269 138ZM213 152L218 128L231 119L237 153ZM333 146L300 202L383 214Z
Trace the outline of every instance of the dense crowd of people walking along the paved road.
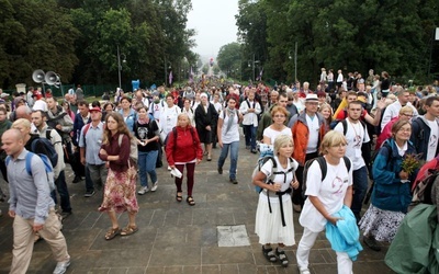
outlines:
M43 237L56 246L54 273L68 267L70 259L60 229L45 231L48 222L72 213L66 163L75 173L71 183L85 180L85 197L103 191L99 210L109 215L111 228L104 238L111 240L139 229L136 194L157 191L156 169L164 165L164 156L175 175L176 201L183 201L185 172L185 202L194 206L195 165L203 159L215 160L217 173L223 174L229 153L228 181L238 184L238 148L244 141L249 153L259 150L260 157L271 159L252 178L261 190L255 231L267 260L289 265L284 247L295 244L294 212L301 214L304 227L296 254L301 273L309 273L309 250L325 229L335 242L344 231L356 235L361 229L364 244L379 251L378 241L392 241L412 201L417 169L408 172L402 168L406 156L417 155L424 161L438 156L438 93L437 82L409 89L393 83L385 71L380 76L370 70L363 79L358 72L344 77L341 70L335 77L331 69L322 69L314 91L308 82L299 81L274 87L262 82L248 87L192 84L126 93L117 89L114 100L105 93L104 102L90 104L80 87L64 100L30 88L27 94L14 94L11 105L0 101L0 170L10 186L9 215L14 217L14 230L23 231L14 233L12 267L27 267L31 236L34 241ZM261 144L268 152L260 149ZM214 156L217 146L219 152ZM46 176L36 180L45 172L36 168L44 157L32 158L29 176L16 176L16 165L24 167L27 153L44 155L52 161L55 190L48 187ZM22 190L33 192L32 198L24 198ZM362 216L368 190L372 202ZM57 196L60 218L54 220ZM0 190L0 199L4 198ZM124 212L128 224L121 228L116 214ZM334 249L338 272L351 273L361 246Z

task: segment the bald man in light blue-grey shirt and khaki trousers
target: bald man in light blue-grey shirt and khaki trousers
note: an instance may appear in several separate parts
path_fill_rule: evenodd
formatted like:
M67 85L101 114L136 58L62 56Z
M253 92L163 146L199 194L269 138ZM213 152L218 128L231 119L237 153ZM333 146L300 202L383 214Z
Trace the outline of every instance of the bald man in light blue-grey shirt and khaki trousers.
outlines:
M54 273L65 273L70 265L67 243L55 213L43 160L24 148L19 129L12 128L1 137L9 156L9 216L13 220L13 250L10 273L26 273L32 259L34 233L38 232L50 246L58 262ZM31 161L31 174L26 172Z

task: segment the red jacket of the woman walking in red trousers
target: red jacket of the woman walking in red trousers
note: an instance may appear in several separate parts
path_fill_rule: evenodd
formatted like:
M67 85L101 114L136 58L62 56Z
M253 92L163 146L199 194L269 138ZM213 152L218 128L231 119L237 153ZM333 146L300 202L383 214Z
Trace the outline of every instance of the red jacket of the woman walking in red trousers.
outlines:
M196 129L192 126L185 128L176 126L175 128L177 129L177 140L172 129L166 145L166 159L169 165L175 165L176 162L190 162L194 159L202 160L203 149ZM192 134L190 128L192 128Z

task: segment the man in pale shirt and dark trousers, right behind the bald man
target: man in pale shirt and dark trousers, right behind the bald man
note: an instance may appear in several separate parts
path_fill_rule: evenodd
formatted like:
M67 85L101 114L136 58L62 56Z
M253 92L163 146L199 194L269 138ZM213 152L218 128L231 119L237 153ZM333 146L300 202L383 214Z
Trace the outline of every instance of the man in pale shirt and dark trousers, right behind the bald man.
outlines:
M55 151L57 153L58 157L57 163L53 168L55 174L55 185L59 194L60 207L63 210L60 213L60 216L63 217L63 219L65 219L71 214L71 207L70 207L70 195L66 184L66 174L64 171L66 169L66 164L64 162L61 137L54 128L49 128L47 126L45 122L46 115L42 111L34 111L31 117L32 117L32 123L34 125L32 133L40 136L40 138L48 139L54 146ZM50 156L47 157L50 158ZM56 203L55 193L53 193L53 198Z

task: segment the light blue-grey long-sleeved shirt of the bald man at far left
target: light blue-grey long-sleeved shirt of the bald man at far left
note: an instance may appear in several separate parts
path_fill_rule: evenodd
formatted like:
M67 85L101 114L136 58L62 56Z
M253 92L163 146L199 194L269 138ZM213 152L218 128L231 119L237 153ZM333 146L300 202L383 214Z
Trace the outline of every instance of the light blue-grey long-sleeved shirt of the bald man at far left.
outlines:
M11 160L7 167L10 198L9 210L24 219L35 219L35 224L44 224L50 207L55 206L50 197L47 174L43 160L38 156L32 157L32 176L26 171L26 155L23 151Z

